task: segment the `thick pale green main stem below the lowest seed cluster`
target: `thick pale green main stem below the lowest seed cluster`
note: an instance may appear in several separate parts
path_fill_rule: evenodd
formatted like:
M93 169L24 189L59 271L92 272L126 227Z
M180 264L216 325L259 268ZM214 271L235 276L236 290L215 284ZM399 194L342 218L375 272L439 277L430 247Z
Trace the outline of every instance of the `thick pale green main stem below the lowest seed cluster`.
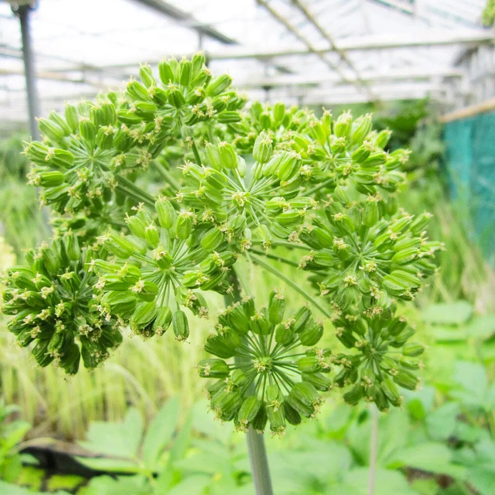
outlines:
M232 270L232 282L234 291L231 296L225 297L227 304L241 301L239 278ZM245 358L239 356L235 358L236 364L243 363ZM250 388L252 389L253 383ZM256 433L252 426L246 433L247 452L249 454L249 463L251 464L251 476L254 484L254 495L273 495L272 481L270 477L270 468L268 467L268 458L266 456L265 439L263 435Z

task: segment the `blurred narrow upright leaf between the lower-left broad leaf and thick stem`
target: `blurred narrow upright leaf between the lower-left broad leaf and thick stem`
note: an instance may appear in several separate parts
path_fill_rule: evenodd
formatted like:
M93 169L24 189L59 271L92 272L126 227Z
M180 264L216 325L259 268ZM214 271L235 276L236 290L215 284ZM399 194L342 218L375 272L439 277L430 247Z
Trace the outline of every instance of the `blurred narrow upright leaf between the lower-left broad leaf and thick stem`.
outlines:
M168 400L148 427L141 456L145 466L154 471L163 448L170 442L179 420L179 397Z

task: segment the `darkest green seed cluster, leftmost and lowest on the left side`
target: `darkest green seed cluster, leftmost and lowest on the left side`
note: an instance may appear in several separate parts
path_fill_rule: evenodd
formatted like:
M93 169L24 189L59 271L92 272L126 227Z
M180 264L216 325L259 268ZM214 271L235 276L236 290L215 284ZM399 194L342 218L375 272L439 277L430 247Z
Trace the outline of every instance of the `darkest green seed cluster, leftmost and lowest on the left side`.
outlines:
M122 341L116 319L98 311L96 277L85 270L89 258L75 236L66 236L28 252L28 266L6 272L2 311L13 315L7 328L22 347L35 343L32 354L41 366L54 362L74 374L82 357L94 368Z

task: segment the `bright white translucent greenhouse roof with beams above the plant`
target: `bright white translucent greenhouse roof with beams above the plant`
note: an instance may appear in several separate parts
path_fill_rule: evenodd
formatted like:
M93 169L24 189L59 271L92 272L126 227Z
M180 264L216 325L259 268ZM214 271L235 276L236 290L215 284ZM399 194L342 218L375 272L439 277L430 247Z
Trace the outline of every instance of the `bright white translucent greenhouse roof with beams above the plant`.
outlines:
M139 62L205 50L262 100L448 99L455 61L493 43L486 0L39 0L30 15L40 113L121 88ZM20 24L0 1L1 120L25 122Z

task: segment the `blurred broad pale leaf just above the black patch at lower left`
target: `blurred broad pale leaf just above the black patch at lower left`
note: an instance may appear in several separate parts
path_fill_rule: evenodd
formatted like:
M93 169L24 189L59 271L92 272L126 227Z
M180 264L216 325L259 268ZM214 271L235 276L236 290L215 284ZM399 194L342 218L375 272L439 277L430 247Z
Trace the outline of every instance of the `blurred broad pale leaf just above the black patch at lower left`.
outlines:
M100 454L135 459L142 435L143 418L138 409L131 407L122 423L92 422L87 440L79 445Z

